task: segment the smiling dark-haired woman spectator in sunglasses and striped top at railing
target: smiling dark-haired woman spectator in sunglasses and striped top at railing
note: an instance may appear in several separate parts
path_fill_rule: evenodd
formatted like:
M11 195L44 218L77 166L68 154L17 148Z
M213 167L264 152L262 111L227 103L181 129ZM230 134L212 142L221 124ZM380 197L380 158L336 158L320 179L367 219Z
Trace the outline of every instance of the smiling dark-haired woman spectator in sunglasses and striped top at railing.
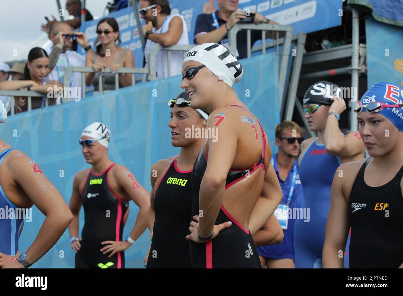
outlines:
M116 45L119 41L119 25L114 18L107 17L99 21L97 25L96 52L87 52L85 65L91 66L96 72L85 73L85 84L94 85L95 93L99 92L99 79L102 79L102 89L110 91L115 89L115 72L120 67L134 68L134 56L131 50ZM97 42L96 41L96 42ZM105 67L110 67L112 73L103 73ZM119 74L119 87L131 85L131 74Z

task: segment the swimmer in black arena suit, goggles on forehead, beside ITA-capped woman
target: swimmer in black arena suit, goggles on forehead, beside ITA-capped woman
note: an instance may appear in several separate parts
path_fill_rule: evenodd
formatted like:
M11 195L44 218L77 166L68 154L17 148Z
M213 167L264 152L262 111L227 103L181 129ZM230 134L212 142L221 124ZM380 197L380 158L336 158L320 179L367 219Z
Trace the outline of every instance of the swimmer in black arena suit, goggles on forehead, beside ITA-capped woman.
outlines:
M150 209L147 224L152 244L144 259L147 268L191 268L189 255L189 217L192 213L193 165L204 145L204 137L189 137L190 130L203 133L209 113L190 108L189 96L183 92L168 101L171 110L172 146L181 147L179 155L156 162L151 168ZM196 134L195 134L196 135ZM226 222L218 230L229 227ZM283 232L274 215L253 236L256 245L278 244Z

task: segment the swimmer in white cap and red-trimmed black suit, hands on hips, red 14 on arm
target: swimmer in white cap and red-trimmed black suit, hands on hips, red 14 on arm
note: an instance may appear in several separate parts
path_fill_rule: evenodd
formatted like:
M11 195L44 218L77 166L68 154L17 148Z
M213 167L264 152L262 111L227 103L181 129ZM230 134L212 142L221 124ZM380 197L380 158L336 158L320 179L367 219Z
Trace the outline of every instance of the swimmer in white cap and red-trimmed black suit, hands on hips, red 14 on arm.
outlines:
M147 190L130 170L108 157L110 130L101 122L87 126L79 139L87 164L92 168L75 175L69 225L76 268L125 268L124 250L147 228L145 215L150 206ZM129 201L140 208L133 230L123 240ZM79 237L79 213L84 207L84 227Z

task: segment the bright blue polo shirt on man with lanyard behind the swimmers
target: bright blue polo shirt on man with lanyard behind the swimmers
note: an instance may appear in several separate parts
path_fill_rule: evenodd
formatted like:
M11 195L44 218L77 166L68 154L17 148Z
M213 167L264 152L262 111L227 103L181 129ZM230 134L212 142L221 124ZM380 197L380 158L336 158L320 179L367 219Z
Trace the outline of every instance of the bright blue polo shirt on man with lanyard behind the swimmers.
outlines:
M287 179L285 182L281 180L280 174L278 172L277 166L277 153L273 155L272 164L274 170L276 171L278 182L280 182L281 190L283 191L283 198L281 199L281 205L287 205L287 200L289 197L291 183L293 179L294 166L297 170L297 175L295 178L295 187L293 191L293 195L291 197L291 201L289 203L290 214L291 209L302 208L303 207L303 190L301 180L299 179L299 170L298 170L298 161L294 160L294 166L288 173ZM293 210L294 213L294 210ZM294 260L294 225L296 221L296 217L293 215L292 219L288 219L287 229L283 229L284 239L281 244L273 244L270 246L261 246L258 247L258 253L260 256L271 259L283 259L290 258ZM299 219L303 219L299 217Z

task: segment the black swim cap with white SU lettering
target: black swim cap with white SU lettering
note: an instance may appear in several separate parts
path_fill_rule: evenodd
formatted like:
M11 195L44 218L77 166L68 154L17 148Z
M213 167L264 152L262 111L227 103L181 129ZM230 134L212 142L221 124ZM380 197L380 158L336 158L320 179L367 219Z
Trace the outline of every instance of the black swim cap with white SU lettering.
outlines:
M322 104L331 105L333 97L340 97L341 89L339 85L328 81L318 81L306 91L302 104Z

